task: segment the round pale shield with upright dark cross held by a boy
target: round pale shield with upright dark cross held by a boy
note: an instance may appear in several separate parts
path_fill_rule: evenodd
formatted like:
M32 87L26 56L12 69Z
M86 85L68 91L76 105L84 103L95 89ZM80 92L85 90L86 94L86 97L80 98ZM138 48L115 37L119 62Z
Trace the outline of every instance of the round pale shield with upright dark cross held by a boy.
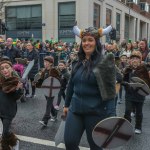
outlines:
M56 96L60 90L60 81L54 77L48 77L42 83L42 93L47 97Z

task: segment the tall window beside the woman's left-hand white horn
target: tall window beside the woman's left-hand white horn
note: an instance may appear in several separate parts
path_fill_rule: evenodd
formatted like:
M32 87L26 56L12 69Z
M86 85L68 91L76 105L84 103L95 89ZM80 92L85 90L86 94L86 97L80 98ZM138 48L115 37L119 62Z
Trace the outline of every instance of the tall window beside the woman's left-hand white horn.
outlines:
M58 4L58 39L65 42L74 42L75 36L72 27L75 23L75 2Z

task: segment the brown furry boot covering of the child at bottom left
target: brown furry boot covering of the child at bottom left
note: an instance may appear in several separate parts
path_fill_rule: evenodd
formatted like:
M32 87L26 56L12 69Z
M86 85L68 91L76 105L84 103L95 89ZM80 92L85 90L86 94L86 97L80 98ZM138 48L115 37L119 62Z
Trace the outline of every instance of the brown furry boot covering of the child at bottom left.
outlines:
M1 140L2 150L11 150L17 144L17 140L18 138L13 133L3 136Z

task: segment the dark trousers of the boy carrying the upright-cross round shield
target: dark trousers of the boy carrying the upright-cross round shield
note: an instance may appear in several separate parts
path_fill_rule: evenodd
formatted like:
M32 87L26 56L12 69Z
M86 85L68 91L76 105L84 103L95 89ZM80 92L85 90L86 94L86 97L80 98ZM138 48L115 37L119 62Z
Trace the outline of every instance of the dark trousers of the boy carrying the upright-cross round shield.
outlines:
M57 110L54 108L54 105L53 105L54 97L47 97L47 96L45 96L45 98L46 98L46 101L47 101L46 102L46 110L45 110L45 114L43 116L42 121L47 123L48 120L51 118L51 115L53 117L57 117Z

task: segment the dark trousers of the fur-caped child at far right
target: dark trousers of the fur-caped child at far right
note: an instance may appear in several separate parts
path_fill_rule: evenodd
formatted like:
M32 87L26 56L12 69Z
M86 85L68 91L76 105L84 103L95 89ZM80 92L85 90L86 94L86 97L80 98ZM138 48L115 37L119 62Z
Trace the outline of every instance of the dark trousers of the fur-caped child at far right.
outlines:
M131 122L131 112L133 111L133 106L135 107L135 128L142 129L142 120L143 120L143 103L144 102L134 102L134 101L125 101L125 115L129 122Z

